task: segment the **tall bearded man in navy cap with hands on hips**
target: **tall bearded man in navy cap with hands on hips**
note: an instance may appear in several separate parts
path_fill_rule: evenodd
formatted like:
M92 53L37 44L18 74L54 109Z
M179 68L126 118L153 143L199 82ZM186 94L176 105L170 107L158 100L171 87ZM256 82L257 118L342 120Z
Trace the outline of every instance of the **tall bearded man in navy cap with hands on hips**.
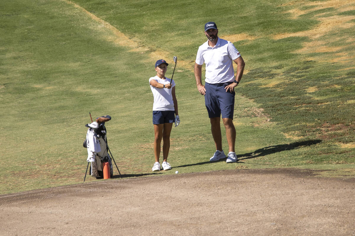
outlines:
M220 115L226 131L229 153L226 162L237 162L235 154L235 127L233 124L235 87L238 86L244 71L245 63L234 45L218 37L217 25L207 22L204 25L207 42L197 51L195 63L195 79L198 92L204 95L208 117L211 121L212 137L216 146L210 161L224 159ZM233 62L237 64L234 76ZM202 65L206 64L205 85L202 85Z

